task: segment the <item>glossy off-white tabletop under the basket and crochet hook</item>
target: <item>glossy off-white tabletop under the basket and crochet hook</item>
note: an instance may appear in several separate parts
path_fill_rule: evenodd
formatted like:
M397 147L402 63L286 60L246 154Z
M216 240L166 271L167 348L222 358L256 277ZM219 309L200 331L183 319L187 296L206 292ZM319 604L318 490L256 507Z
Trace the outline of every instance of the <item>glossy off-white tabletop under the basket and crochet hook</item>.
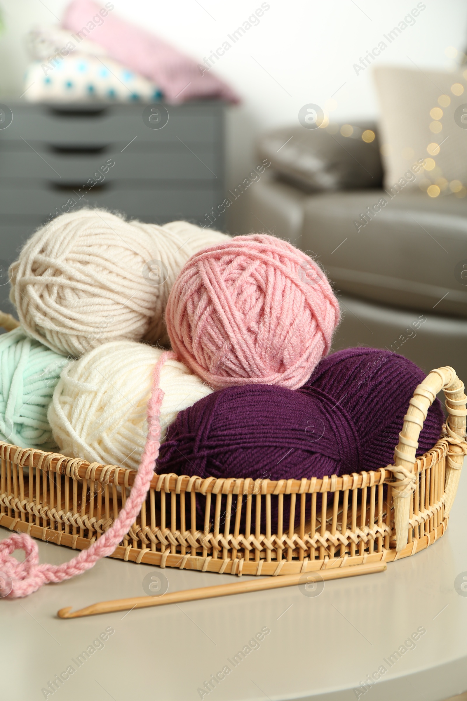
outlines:
M6 536L0 529L0 538ZM73 554L45 543L39 548L42 562L64 562ZM441 701L467 689L467 596L454 589L456 576L467 576L465 468L445 536L428 550L389 564L385 573L328 582L318 597L288 587L130 613L56 618L64 606L144 595L142 580L154 570L106 559L27 599L1 600L1 699L44 698L41 689L69 665L76 671L49 699L195 700L201 697L197 689L225 665L230 674L204 699L351 701L357 698L354 688L380 665L388 671L360 695L364 701ZM232 581L214 573L164 573L171 591ZM78 667L72 660L107 627L115 632ZM234 667L229 658L263 627L270 633L260 647ZM419 627L426 633L416 647L389 668L384 659Z

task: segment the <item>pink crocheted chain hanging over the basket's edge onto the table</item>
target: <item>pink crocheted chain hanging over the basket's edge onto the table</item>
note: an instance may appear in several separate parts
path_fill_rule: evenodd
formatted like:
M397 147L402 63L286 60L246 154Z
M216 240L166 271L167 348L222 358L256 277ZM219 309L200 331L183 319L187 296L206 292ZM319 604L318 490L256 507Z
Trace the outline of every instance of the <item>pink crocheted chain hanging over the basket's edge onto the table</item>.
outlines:
M120 543L125 533L141 510L141 504L146 498L149 485L154 474L154 463L159 454L160 446L160 406L164 393L159 388L160 371L162 365L169 358L175 358L172 351L165 351L160 356L153 372L153 386L151 398L148 401L148 437L144 446L141 464L139 465L137 476L130 496L128 496L125 506L120 511L118 519L104 535L92 543L88 550L82 550L77 557L62 565L39 564L39 550L36 541L27 533L15 533L10 538L0 541L0 572L11 579L11 583L0 576L0 596L8 598L27 597L28 594L36 592L43 584L49 582L62 582L71 579L77 574L82 574L93 567L102 557L112 554L116 545ZM18 562L12 553L15 550L24 550L26 559ZM2 590L2 587L3 590ZM8 587L8 590L5 589Z

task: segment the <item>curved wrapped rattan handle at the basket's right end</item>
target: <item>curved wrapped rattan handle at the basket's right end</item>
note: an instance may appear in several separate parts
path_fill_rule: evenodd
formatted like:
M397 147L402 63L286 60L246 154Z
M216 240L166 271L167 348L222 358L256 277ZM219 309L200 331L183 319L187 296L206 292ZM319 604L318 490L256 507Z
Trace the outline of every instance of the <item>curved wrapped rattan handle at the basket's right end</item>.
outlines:
M445 406L449 416L446 419L447 441L450 443L447 454L445 480L445 514L449 513L456 496L461 475L463 456L467 455L466 402L463 382L452 367L432 370L414 390L409 402L404 425L399 433L399 442L394 450L393 483L394 525L396 527L396 551L407 545L409 533L410 503L415 487L414 464L420 431L426 414L436 395L444 390ZM398 469L399 468L399 469Z

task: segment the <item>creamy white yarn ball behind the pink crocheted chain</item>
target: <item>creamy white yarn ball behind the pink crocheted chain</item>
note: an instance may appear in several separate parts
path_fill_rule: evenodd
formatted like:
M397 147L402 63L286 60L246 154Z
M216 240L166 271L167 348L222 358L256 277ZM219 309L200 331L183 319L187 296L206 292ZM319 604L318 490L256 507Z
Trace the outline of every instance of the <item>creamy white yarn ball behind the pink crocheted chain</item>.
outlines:
M55 442L68 457L136 470L146 434L146 405L162 350L134 341L104 343L64 369L48 409ZM162 438L182 409L213 390L186 365L166 360Z

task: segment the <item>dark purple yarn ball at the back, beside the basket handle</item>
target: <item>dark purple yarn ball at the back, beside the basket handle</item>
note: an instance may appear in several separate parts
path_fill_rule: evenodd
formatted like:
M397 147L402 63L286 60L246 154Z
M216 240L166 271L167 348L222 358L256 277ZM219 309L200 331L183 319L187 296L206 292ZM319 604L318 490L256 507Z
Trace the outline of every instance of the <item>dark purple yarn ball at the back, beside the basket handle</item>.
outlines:
M321 360L298 392L319 389L338 402L354 422L363 470L378 470L393 463L410 399L425 377L402 355L377 348L347 348ZM438 441L443 422L441 402L435 399L419 436L417 456Z

